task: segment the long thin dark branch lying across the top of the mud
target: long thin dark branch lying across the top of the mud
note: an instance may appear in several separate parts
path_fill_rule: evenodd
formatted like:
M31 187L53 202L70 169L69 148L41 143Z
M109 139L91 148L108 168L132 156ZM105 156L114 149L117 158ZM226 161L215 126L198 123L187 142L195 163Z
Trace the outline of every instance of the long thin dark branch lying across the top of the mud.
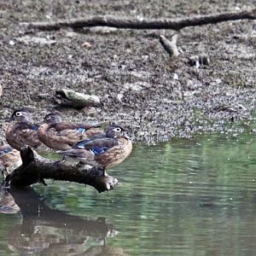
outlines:
M201 15L184 19L159 19L159 20L131 20L114 16L95 16L71 20L23 22L21 26L26 29L38 29L43 31L57 30L62 27L81 28L84 26L112 26L131 29L172 29L180 30L188 26L202 26L215 24L228 20L255 20L256 9L242 11L240 13L224 13L218 15Z

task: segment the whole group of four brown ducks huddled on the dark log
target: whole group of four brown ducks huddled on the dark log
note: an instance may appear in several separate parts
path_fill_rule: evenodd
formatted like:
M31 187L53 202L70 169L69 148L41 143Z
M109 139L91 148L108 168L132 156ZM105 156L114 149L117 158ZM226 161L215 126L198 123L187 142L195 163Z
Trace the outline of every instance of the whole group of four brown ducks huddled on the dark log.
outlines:
M21 165L20 150L30 146L35 150L56 150L63 160L71 157L82 164L116 166L131 154L131 138L124 127L109 125L106 131L101 125L63 122L57 113L49 113L41 123L33 124L26 108L15 110L6 130L8 144L0 146L0 169L3 176Z

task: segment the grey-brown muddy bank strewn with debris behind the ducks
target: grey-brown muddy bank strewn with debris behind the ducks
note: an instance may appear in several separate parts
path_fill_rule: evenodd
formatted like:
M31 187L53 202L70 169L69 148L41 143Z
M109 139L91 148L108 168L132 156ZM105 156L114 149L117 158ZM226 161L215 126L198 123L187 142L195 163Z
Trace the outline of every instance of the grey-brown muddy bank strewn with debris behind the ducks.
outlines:
M197 131L224 131L227 123L253 121L256 80L255 21L183 29L179 58L171 61L159 35L172 31L84 28L25 34L19 22L82 15L176 18L253 9L253 1L23 1L0 3L0 114L29 107L38 121L55 111L55 90L100 96L100 108L60 109L70 121L116 122L135 141L156 143ZM82 45L88 42L90 47ZM87 44L88 45L88 44ZM188 63L207 54L209 66ZM1 122L1 141L6 124ZM243 126L244 129L244 126Z

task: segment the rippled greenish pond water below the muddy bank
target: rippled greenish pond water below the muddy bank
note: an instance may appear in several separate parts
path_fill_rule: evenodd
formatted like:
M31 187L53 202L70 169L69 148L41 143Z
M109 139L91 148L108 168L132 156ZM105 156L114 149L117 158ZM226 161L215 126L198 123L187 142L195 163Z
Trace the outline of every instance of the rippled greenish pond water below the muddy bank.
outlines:
M98 194L76 183L13 193L0 255L255 255L255 134L138 145Z

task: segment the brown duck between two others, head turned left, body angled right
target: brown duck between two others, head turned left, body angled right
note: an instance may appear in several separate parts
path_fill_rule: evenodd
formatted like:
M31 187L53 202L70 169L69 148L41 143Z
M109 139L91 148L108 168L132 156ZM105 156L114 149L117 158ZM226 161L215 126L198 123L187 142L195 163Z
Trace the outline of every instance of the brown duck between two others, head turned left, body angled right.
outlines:
M38 137L49 148L68 150L75 143L97 134L103 134L99 125L83 125L62 122L57 113L49 113L39 125Z

